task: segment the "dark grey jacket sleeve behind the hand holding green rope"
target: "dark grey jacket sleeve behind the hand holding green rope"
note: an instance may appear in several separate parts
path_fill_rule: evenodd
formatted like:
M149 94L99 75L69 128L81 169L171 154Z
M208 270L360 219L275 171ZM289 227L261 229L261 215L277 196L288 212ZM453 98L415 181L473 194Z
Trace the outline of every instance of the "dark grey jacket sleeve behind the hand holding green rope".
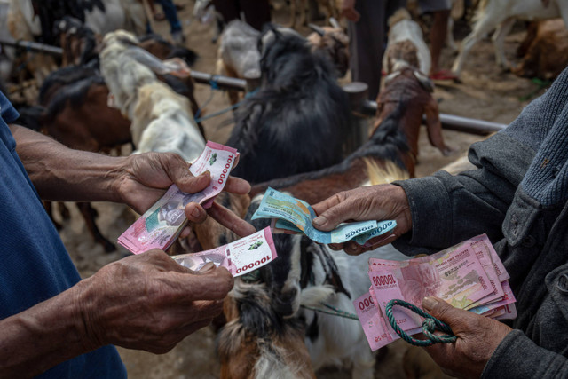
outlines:
M514 352L513 352L514 351ZM568 359L561 354L537 346L520 330L514 330L501 341L485 365L482 378L565 378Z

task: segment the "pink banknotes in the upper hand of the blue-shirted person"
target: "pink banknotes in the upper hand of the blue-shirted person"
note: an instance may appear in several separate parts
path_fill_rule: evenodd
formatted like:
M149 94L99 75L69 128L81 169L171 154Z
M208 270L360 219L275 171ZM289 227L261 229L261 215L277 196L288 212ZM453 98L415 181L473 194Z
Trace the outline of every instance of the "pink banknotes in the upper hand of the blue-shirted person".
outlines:
M236 149L208 141L189 170L193 176L209 171L209 186L200 193L184 193L176 185L170 186L159 201L118 237L118 243L134 254L149 249L168 249L187 224L185 205L197 202L209 208L217 194L223 191L229 173L238 161Z

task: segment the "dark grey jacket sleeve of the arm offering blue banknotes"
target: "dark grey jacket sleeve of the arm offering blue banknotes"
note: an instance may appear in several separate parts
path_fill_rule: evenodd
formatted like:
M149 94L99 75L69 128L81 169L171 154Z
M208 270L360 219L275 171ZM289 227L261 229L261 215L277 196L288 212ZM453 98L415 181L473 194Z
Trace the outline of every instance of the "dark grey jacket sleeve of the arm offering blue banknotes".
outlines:
M446 249L481 233L500 240L503 219L534 153L531 146L499 132L471 146L469 161L477 170L456 176L439 171L395 182L406 192L413 225L395 247L415 255Z

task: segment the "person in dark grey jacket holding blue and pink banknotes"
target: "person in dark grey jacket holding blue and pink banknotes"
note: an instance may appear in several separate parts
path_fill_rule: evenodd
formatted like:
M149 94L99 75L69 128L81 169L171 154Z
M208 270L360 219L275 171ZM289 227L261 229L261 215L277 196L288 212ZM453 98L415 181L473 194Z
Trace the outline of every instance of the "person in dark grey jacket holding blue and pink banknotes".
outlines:
M477 170L360 187L313 205L313 225L323 231L347 220L396 220L393 233L371 241L407 255L487 233L509 272L518 316L507 325L424 298L424 310L458 337L427 348L449 375L568 377L566 125L568 68L508 128L470 147ZM366 250L355 242L332 248Z

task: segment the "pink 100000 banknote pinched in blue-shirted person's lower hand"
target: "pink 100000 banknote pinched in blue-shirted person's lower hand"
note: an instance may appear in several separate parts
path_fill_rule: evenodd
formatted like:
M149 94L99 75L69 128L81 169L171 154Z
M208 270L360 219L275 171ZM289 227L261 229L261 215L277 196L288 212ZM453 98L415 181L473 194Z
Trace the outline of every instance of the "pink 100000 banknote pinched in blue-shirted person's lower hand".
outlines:
M233 276L255 271L269 264L276 257L278 256L270 227L216 249L172 256L179 265L193 271L198 271L203 265L213 262L217 267L225 267Z

